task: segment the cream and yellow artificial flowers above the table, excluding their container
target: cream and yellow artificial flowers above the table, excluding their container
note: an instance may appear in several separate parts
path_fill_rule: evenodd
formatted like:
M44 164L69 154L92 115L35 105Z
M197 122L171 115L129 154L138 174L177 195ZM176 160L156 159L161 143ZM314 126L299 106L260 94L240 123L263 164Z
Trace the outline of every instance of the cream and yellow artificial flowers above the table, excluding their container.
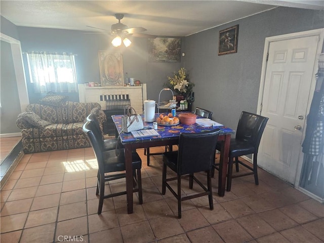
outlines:
M175 92L184 97L188 97L194 87L193 83L189 82L187 71L184 67L181 67L178 72L174 73L173 77L169 77L168 88L172 88Z

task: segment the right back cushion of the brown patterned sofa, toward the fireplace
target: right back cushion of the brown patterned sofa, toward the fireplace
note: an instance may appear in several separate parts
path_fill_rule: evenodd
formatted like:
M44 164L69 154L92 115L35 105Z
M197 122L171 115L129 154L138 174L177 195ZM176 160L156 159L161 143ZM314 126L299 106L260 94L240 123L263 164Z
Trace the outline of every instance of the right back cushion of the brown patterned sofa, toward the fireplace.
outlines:
M91 113L93 108L101 109L99 103L80 103L67 101L65 103L65 120L64 123L84 123L84 120Z

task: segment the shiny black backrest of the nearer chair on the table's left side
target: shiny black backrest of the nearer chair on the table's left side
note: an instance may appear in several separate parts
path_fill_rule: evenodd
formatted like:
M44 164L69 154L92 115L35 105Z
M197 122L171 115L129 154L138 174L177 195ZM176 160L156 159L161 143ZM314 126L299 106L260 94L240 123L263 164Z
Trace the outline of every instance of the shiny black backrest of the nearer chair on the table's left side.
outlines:
M95 152L97 161L98 161L98 166L99 170L101 168L104 168L103 166L103 140L101 139L102 135L101 133L98 133L98 130L96 128L96 125L94 121L88 120L84 125L83 125L83 131L88 135L88 138L90 140L91 146Z

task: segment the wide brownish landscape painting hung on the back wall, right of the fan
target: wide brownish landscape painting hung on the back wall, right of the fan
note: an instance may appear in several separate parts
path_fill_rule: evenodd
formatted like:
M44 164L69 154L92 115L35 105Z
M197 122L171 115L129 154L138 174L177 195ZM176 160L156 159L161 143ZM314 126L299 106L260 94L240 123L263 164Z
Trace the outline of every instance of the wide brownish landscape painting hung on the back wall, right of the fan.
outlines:
M148 61L149 62L180 62L181 38L149 38Z

